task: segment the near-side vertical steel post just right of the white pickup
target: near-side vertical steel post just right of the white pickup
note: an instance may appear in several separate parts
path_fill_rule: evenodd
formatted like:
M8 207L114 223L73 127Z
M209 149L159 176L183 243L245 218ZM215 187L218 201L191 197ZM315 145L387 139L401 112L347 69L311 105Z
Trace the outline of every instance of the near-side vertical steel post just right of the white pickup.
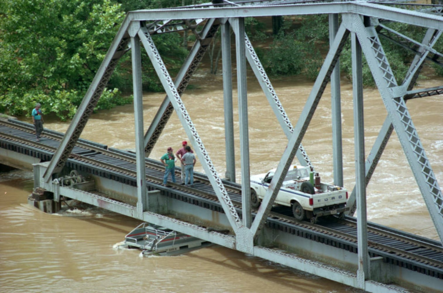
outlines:
M363 118L362 53L355 32L351 33L352 46L352 95L354 104L354 155L357 190L357 282L365 289L365 278L369 278L369 254L367 245L366 182L365 182L365 128Z

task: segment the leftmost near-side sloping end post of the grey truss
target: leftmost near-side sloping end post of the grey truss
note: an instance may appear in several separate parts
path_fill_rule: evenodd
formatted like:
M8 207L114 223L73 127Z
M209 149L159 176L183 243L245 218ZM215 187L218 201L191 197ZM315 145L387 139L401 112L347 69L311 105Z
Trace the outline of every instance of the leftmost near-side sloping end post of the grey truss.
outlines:
M93 110L97 105L97 102L100 99L109 78L117 66L118 60L128 51L127 45L130 41L127 33L128 25L129 21L128 17L126 17L120 26L120 29L117 32L111 46L109 47L105 59L98 68L97 74L95 74L94 79L82 100L82 103L78 106L77 112L66 130L65 136L55 151L54 156L52 156L51 162L43 175L43 180L45 182L49 183L49 181L52 179L52 174L62 170L66 160L68 160L72 152L72 149L77 143L80 134L85 128L89 116L93 113Z

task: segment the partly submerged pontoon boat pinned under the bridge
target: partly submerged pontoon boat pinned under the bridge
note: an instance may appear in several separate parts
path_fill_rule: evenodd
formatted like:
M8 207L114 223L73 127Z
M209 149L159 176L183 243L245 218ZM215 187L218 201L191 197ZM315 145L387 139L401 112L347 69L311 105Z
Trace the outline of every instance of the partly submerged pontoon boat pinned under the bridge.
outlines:
M124 237L124 245L143 255L176 255L211 245L211 242L150 223L141 223Z

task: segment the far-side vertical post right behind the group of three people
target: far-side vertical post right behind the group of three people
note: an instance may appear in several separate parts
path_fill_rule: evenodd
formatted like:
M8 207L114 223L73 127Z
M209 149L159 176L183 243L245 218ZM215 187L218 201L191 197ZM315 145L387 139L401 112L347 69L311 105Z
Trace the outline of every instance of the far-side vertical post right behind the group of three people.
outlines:
M235 182L234 123L232 102L232 66L230 25L221 25L221 56L223 66L223 106L225 108L226 179Z

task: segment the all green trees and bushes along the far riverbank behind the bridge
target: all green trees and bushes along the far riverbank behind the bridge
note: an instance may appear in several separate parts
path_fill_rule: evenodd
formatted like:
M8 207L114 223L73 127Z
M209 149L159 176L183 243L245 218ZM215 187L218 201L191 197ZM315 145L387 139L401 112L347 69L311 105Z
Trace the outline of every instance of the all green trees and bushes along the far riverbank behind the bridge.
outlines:
M40 102L45 113L72 118L128 11L200 4L202 0L4 0L0 3L0 112L29 115ZM329 43L328 16L272 17L245 20L246 31L268 75L300 75L314 80ZM392 24L421 40L424 29ZM174 76L188 52L192 33L153 35L157 49ZM383 41L399 82L411 55ZM262 44L265 45L262 45ZM220 59L220 35L208 54L211 73ZM142 54L143 89L162 86L146 54ZM342 75L351 78L350 43L340 59ZM439 72L441 72L440 70ZM368 67L365 86L373 86ZM130 54L125 54L101 96L96 110L132 102Z

